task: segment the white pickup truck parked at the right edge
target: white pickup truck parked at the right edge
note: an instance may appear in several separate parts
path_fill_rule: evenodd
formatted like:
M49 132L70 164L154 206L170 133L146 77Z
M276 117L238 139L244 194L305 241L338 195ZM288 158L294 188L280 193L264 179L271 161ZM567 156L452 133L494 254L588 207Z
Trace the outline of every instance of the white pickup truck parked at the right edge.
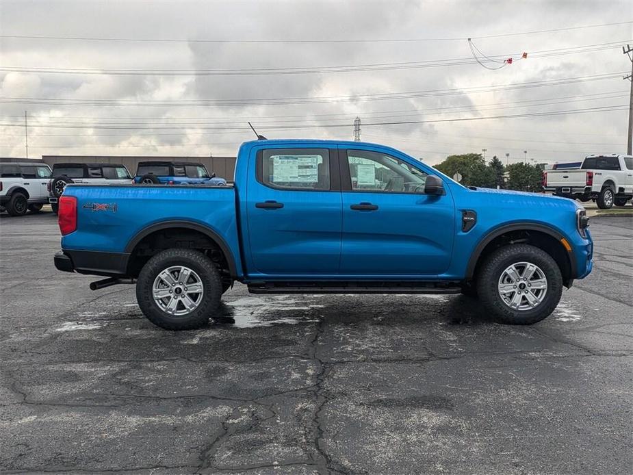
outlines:
M593 200L600 209L625 206L633 198L633 157L587 155L580 168L545 170L543 190L583 202Z

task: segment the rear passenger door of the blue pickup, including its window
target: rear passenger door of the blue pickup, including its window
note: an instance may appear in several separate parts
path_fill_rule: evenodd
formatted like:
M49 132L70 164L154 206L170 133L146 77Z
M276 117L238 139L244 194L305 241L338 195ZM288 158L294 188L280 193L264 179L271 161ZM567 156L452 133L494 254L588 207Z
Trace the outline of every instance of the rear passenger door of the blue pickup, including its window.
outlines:
M251 269L296 277L337 274L341 192L336 151L264 149L250 157L246 214Z

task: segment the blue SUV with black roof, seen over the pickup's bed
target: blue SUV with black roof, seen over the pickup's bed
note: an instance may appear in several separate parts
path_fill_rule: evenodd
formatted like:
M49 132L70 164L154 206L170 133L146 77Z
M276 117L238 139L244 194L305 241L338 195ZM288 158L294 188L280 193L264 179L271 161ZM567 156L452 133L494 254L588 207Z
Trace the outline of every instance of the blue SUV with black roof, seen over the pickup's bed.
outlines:
M144 185L226 185L227 181L209 175L203 164L190 162L139 162L134 183Z

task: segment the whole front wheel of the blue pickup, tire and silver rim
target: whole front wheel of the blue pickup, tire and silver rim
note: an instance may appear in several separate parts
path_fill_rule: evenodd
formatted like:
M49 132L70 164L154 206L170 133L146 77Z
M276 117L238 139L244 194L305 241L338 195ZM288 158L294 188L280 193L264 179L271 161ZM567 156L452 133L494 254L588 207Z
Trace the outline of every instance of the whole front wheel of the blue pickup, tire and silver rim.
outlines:
M482 305L501 322L529 325L554 311L563 277L552 256L528 244L498 248L478 275Z

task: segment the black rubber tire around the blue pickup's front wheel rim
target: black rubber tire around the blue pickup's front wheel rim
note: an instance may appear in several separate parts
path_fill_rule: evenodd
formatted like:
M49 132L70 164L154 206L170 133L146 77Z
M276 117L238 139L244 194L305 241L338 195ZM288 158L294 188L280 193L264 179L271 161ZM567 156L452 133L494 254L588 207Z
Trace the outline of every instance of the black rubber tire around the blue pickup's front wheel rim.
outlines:
M538 266L546 279L543 300L532 309L511 308L500 295L498 288L504 271L513 264L521 262ZM527 283L519 283L519 285L527 285ZM554 311L560 301L561 294L563 294L563 277L556 261L545 251L528 244L513 244L498 248L486 258L478 274L477 289L483 307L500 322L530 325L540 322ZM511 292L513 291L511 290ZM524 298L526 297L521 296L519 303L522 303Z

